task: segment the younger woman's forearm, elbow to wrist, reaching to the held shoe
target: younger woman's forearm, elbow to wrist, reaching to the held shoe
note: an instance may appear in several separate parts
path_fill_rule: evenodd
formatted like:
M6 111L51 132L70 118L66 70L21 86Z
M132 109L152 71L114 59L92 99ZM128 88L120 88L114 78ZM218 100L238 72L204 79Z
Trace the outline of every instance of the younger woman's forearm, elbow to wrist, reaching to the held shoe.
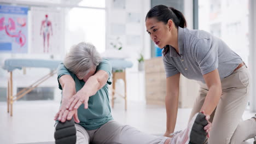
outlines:
M218 105L221 95L222 88L220 86L210 87L200 111L205 111L207 115L211 115Z

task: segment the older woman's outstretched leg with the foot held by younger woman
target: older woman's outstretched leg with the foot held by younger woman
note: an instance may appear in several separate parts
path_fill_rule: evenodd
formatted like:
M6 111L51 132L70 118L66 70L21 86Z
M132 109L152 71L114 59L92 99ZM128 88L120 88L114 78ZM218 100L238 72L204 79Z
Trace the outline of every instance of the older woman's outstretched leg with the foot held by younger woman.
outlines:
M185 143L197 143L201 144L206 140L206 131L203 129L208 122L205 119L205 115L202 113L196 113L192 118L188 127L174 135L172 138L165 136L155 136L142 133L136 128L130 125L121 125L115 121L110 121L101 128L96 130L92 143L163 143L163 144L185 144Z

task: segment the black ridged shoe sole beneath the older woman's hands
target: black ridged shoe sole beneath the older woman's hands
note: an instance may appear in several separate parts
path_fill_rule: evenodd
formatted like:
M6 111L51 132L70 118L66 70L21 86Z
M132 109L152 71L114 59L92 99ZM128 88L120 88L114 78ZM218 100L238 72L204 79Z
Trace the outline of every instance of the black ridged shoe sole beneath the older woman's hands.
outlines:
M74 119L64 123L58 122L54 133L56 144L75 144L77 142L77 130L75 129Z

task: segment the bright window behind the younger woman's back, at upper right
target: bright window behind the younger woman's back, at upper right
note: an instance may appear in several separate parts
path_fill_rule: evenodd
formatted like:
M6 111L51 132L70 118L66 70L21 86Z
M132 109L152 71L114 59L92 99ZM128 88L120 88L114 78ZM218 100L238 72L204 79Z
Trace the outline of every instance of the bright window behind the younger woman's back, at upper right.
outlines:
M248 15L248 0L199 0L199 29L224 40L246 64L249 61Z

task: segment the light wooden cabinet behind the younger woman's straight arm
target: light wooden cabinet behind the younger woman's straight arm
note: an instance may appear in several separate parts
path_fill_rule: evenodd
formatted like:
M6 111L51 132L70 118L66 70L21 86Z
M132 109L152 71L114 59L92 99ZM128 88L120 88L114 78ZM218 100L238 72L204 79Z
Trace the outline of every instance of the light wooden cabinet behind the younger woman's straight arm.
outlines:
M166 75L162 57L145 60L145 86L147 104L165 105ZM191 108L199 85L181 75L179 81L179 107Z

